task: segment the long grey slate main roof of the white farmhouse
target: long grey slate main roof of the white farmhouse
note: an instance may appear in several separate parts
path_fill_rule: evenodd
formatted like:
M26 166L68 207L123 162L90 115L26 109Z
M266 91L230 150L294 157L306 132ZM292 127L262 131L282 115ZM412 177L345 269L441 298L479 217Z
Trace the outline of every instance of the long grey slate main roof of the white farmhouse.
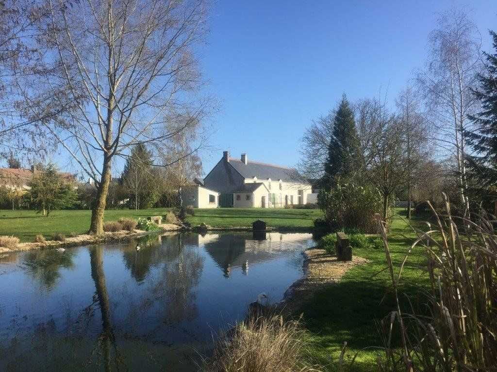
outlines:
M280 167L272 164L257 163L248 160L248 164L242 163L240 159L230 158L230 164L245 178L257 177L259 180L271 181L296 181L300 180L301 176L295 169Z

